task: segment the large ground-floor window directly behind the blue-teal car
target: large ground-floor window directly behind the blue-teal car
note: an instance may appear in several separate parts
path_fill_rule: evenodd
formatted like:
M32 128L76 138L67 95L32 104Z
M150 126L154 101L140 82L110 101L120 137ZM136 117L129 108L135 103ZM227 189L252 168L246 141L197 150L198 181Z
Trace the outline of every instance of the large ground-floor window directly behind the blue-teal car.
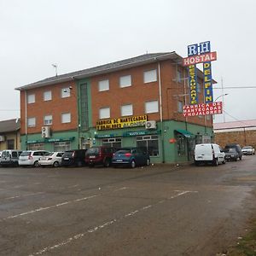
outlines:
M147 148L148 154L150 156L158 156L159 155L159 137L158 137L158 135L138 136L137 137L137 147Z

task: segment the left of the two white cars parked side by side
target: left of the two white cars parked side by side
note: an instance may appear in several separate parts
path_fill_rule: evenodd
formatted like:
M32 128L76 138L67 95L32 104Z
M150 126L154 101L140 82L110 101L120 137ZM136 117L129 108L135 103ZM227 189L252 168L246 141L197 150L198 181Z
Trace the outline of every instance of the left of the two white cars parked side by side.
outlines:
M46 150L26 150L20 154L19 166L36 166L38 167L38 160L40 157L49 153Z

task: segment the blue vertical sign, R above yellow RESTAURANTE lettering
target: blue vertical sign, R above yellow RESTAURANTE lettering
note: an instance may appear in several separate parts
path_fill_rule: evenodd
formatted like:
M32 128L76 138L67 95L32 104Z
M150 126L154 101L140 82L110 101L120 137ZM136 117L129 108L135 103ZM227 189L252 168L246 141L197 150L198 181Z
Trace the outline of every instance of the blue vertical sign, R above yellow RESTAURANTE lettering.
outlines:
M188 56L198 55L197 44L191 44L188 46ZM189 70L189 98L190 105L198 103L197 95L197 69L196 65L192 64L188 67Z

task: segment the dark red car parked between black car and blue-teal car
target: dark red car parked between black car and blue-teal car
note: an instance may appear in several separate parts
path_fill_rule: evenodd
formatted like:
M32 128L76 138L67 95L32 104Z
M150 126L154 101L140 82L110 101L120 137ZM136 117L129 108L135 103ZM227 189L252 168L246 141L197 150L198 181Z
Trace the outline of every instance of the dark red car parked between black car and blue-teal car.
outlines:
M104 146L88 148L85 153L85 163L89 166L103 165L109 167L115 151L115 148Z

